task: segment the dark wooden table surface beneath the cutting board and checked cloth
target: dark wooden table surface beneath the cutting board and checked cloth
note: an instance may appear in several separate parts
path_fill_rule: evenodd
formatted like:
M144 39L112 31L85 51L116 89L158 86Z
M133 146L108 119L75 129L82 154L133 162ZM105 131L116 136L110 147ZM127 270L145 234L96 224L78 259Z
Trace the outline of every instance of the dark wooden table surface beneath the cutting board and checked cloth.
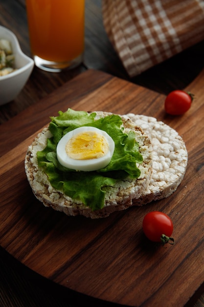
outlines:
M31 56L24 0L0 1L0 25L18 37L24 53ZM204 42L129 78L109 42L103 27L101 0L86 1L85 56L83 64L72 71L50 74L34 68L23 91L15 101L0 106L0 124L33 105L47 94L88 69L107 72L162 94L185 88L204 67ZM189 301L188 306L204 306L204 289ZM200 298L199 298L200 297ZM2 307L78 307L117 306L69 291L26 268L0 248L0 306Z

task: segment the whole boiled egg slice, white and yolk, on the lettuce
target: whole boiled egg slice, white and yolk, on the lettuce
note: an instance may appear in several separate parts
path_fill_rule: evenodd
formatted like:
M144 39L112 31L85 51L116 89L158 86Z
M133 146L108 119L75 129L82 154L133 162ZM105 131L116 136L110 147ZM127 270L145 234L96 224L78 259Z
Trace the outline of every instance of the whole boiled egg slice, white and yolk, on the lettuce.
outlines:
M80 127L61 138L57 145L57 159L69 169L96 171L109 164L114 147L107 132L94 127Z

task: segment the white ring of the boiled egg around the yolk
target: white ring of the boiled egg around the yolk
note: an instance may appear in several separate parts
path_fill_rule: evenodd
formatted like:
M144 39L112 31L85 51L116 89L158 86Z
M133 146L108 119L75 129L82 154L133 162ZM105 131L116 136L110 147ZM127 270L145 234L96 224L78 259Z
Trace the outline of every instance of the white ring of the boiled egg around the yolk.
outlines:
M109 145L108 153L99 158L86 159L86 160L70 158L66 152L66 144L68 143L69 139L80 132L82 133L87 131L96 132L106 138L106 141ZM61 165L69 169L73 169L76 171L85 171L85 172L96 171L106 167L109 164L113 156L114 147L115 147L114 141L106 131L103 131L95 127L80 127L69 131L61 138L61 140L57 144L57 159Z

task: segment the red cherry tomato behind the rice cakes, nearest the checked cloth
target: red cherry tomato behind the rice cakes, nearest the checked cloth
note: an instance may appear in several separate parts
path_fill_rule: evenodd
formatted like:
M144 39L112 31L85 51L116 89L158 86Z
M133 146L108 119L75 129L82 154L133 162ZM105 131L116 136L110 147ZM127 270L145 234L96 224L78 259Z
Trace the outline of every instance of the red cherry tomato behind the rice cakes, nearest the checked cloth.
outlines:
M175 90L169 93L164 102L166 113L182 115L190 108L193 98L193 94L182 90Z

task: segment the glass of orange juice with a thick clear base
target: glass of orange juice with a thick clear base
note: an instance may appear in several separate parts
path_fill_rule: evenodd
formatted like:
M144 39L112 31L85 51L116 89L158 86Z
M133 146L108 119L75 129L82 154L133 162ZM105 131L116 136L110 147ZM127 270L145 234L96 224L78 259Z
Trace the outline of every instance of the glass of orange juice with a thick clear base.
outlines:
M30 48L37 67L60 72L83 60L85 0L26 0Z

